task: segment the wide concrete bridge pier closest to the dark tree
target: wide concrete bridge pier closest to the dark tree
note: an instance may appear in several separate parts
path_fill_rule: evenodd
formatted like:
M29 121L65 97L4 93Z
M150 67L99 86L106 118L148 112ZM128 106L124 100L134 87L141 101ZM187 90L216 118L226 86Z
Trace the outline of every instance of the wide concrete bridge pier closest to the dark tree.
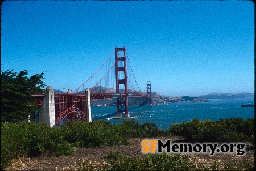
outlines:
M51 86L46 88L46 97L43 99L43 106L39 108L39 123L46 123L49 127L55 125L55 104L54 90Z

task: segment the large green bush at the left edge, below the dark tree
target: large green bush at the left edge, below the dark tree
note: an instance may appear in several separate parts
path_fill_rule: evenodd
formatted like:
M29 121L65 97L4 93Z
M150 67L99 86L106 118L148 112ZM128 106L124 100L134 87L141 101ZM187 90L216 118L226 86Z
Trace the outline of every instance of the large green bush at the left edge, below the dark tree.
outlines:
M1 123L1 167L16 157L30 157L50 151L53 155L70 155L74 148L60 129L36 122Z

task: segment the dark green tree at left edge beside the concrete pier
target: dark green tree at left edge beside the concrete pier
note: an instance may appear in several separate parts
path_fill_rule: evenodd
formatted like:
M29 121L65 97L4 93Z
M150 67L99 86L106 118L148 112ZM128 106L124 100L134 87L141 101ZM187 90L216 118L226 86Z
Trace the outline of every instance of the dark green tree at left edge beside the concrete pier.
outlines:
M1 73L1 122L27 119L35 112L35 99L31 95L45 93L44 72L30 78L27 70L19 74L14 69Z

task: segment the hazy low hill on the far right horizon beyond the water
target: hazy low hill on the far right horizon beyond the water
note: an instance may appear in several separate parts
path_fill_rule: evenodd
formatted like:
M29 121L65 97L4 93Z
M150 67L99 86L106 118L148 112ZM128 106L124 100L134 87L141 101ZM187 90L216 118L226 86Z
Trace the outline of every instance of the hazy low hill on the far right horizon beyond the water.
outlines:
M198 96L199 98L205 99L234 99L234 98L245 98L254 97L254 93L211 93L208 95Z

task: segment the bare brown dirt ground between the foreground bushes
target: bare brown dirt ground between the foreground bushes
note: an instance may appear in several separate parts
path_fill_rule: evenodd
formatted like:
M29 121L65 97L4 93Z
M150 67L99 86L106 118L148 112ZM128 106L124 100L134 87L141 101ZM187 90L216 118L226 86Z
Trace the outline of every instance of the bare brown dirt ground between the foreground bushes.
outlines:
M172 144L182 141L177 137L154 139L170 139ZM93 164L103 167L107 164L105 157L111 150L120 151L122 157L143 156L144 154L141 152L142 140L144 139L129 139L130 146L78 148L72 156L56 157L44 153L38 157L16 159L5 170L77 170L77 163L80 160L89 160ZM209 168L214 163L222 167L226 161L239 164L245 159L249 160L250 163L254 163L254 149L246 149L245 156L237 156L236 153L216 153L213 156L210 156L208 153L193 153L188 156L193 163L204 165L205 168Z

